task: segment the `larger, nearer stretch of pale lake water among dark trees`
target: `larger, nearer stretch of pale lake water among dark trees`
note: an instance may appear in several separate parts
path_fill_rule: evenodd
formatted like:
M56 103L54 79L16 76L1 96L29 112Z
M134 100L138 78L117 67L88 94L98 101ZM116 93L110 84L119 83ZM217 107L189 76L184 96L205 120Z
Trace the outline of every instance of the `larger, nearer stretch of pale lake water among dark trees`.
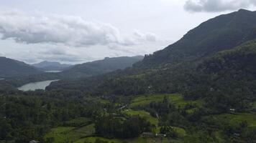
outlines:
M22 87L19 87L19 90L22 90L24 92L27 91L35 91L36 89L42 89L45 90L45 87L49 86L50 83L52 82L56 82L58 80L47 80L47 81L43 81L43 82L32 82L29 84L24 84Z

